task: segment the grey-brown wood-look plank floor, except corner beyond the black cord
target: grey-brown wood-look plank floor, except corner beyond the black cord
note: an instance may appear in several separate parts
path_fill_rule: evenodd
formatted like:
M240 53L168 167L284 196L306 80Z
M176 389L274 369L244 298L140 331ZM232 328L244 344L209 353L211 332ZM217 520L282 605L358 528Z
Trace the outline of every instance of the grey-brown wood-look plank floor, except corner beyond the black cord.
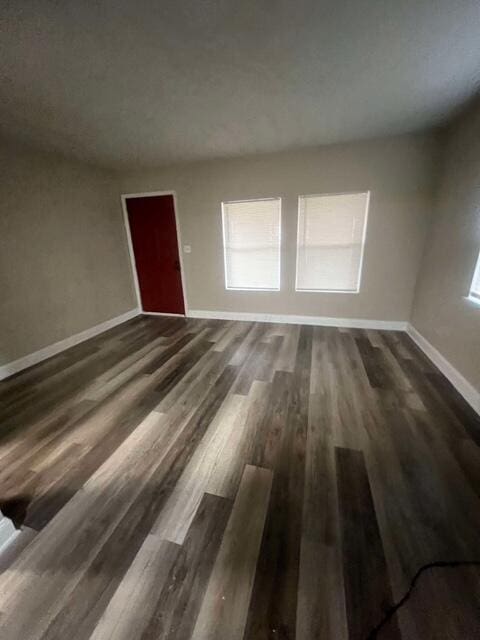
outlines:
M0 403L2 640L363 640L480 560L480 420L404 333L139 317ZM434 568L370 637L479 603Z

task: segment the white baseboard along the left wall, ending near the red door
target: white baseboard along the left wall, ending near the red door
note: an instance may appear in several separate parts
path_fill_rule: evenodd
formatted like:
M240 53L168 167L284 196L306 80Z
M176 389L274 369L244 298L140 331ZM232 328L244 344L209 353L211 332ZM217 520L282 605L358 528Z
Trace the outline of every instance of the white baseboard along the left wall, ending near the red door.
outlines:
M52 356L60 353L61 351L65 351L65 349L69 349L70 347L75 346L76 344L80 344L80 342L84 342L89 338L93 338L97 336L99 333L103 333L108 329L112 329L116 327L118 324L122 324L135 316L140 314L140 309L131 309L126 313L122 313L121 316L117 316L116 318L111 318L110 320L106 320L105 322L101 322L100 324L91 327L90 329L85 329L85 331L81 331L80 333L76 333L69 338L65 338L64 340L60 340L59 342L55 342L54 344L48 345L48 347L44 347L43 349L39 349L38 351L34 351L33 353L29 353L23 358L19 358L18 360L13 360L12 362L7 362L0 366L0 380L4 378L8 378L8 376L17 373L18 371L22 371L23 369L27 369L34 364L38 364L42 362L42 360L46 360L47 358L51 358Z

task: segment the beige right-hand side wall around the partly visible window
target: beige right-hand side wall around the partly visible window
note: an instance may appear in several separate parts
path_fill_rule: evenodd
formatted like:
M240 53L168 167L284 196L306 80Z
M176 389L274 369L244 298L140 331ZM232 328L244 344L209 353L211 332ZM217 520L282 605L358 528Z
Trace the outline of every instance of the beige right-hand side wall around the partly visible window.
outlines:
M466 300L480 250L480 106L448 129L412 324L480 391L480 306Z

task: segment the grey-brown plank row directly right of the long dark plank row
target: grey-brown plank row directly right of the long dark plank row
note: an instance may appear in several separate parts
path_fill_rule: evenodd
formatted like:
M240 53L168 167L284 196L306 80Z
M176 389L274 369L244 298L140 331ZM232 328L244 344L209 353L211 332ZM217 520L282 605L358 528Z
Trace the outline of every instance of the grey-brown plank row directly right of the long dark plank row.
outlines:
M326 346L325 332L316 327L306 440L297 640L348 638Z

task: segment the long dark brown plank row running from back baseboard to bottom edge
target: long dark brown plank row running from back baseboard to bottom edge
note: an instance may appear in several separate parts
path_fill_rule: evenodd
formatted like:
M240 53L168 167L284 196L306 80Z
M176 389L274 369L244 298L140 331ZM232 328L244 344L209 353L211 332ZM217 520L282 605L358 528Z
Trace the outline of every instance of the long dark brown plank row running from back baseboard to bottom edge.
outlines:
M271 460L274 476L270 509L247 637L269 638L273 629L280 638L295 637L312 335L311 327L301 327L285 421Z

